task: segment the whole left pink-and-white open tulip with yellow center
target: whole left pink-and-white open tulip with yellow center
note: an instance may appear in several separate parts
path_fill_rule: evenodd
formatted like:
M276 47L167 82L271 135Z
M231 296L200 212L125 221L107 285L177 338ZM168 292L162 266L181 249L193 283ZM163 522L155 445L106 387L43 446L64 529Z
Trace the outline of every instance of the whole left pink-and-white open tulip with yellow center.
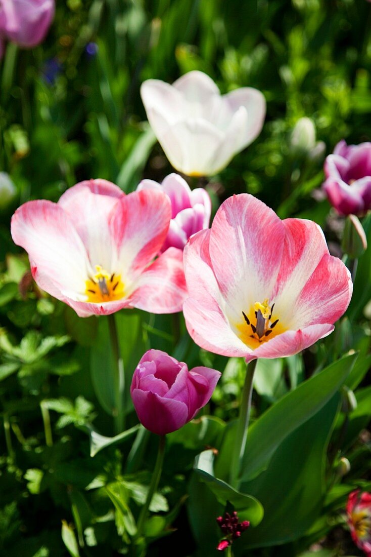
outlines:
M122 307L180 311L182 252L154 260L166 238L171 206L155 190L127 196L106 180L68 189L58 203L29 201L12 217L14 242L29 256L34 280L81 317Z

